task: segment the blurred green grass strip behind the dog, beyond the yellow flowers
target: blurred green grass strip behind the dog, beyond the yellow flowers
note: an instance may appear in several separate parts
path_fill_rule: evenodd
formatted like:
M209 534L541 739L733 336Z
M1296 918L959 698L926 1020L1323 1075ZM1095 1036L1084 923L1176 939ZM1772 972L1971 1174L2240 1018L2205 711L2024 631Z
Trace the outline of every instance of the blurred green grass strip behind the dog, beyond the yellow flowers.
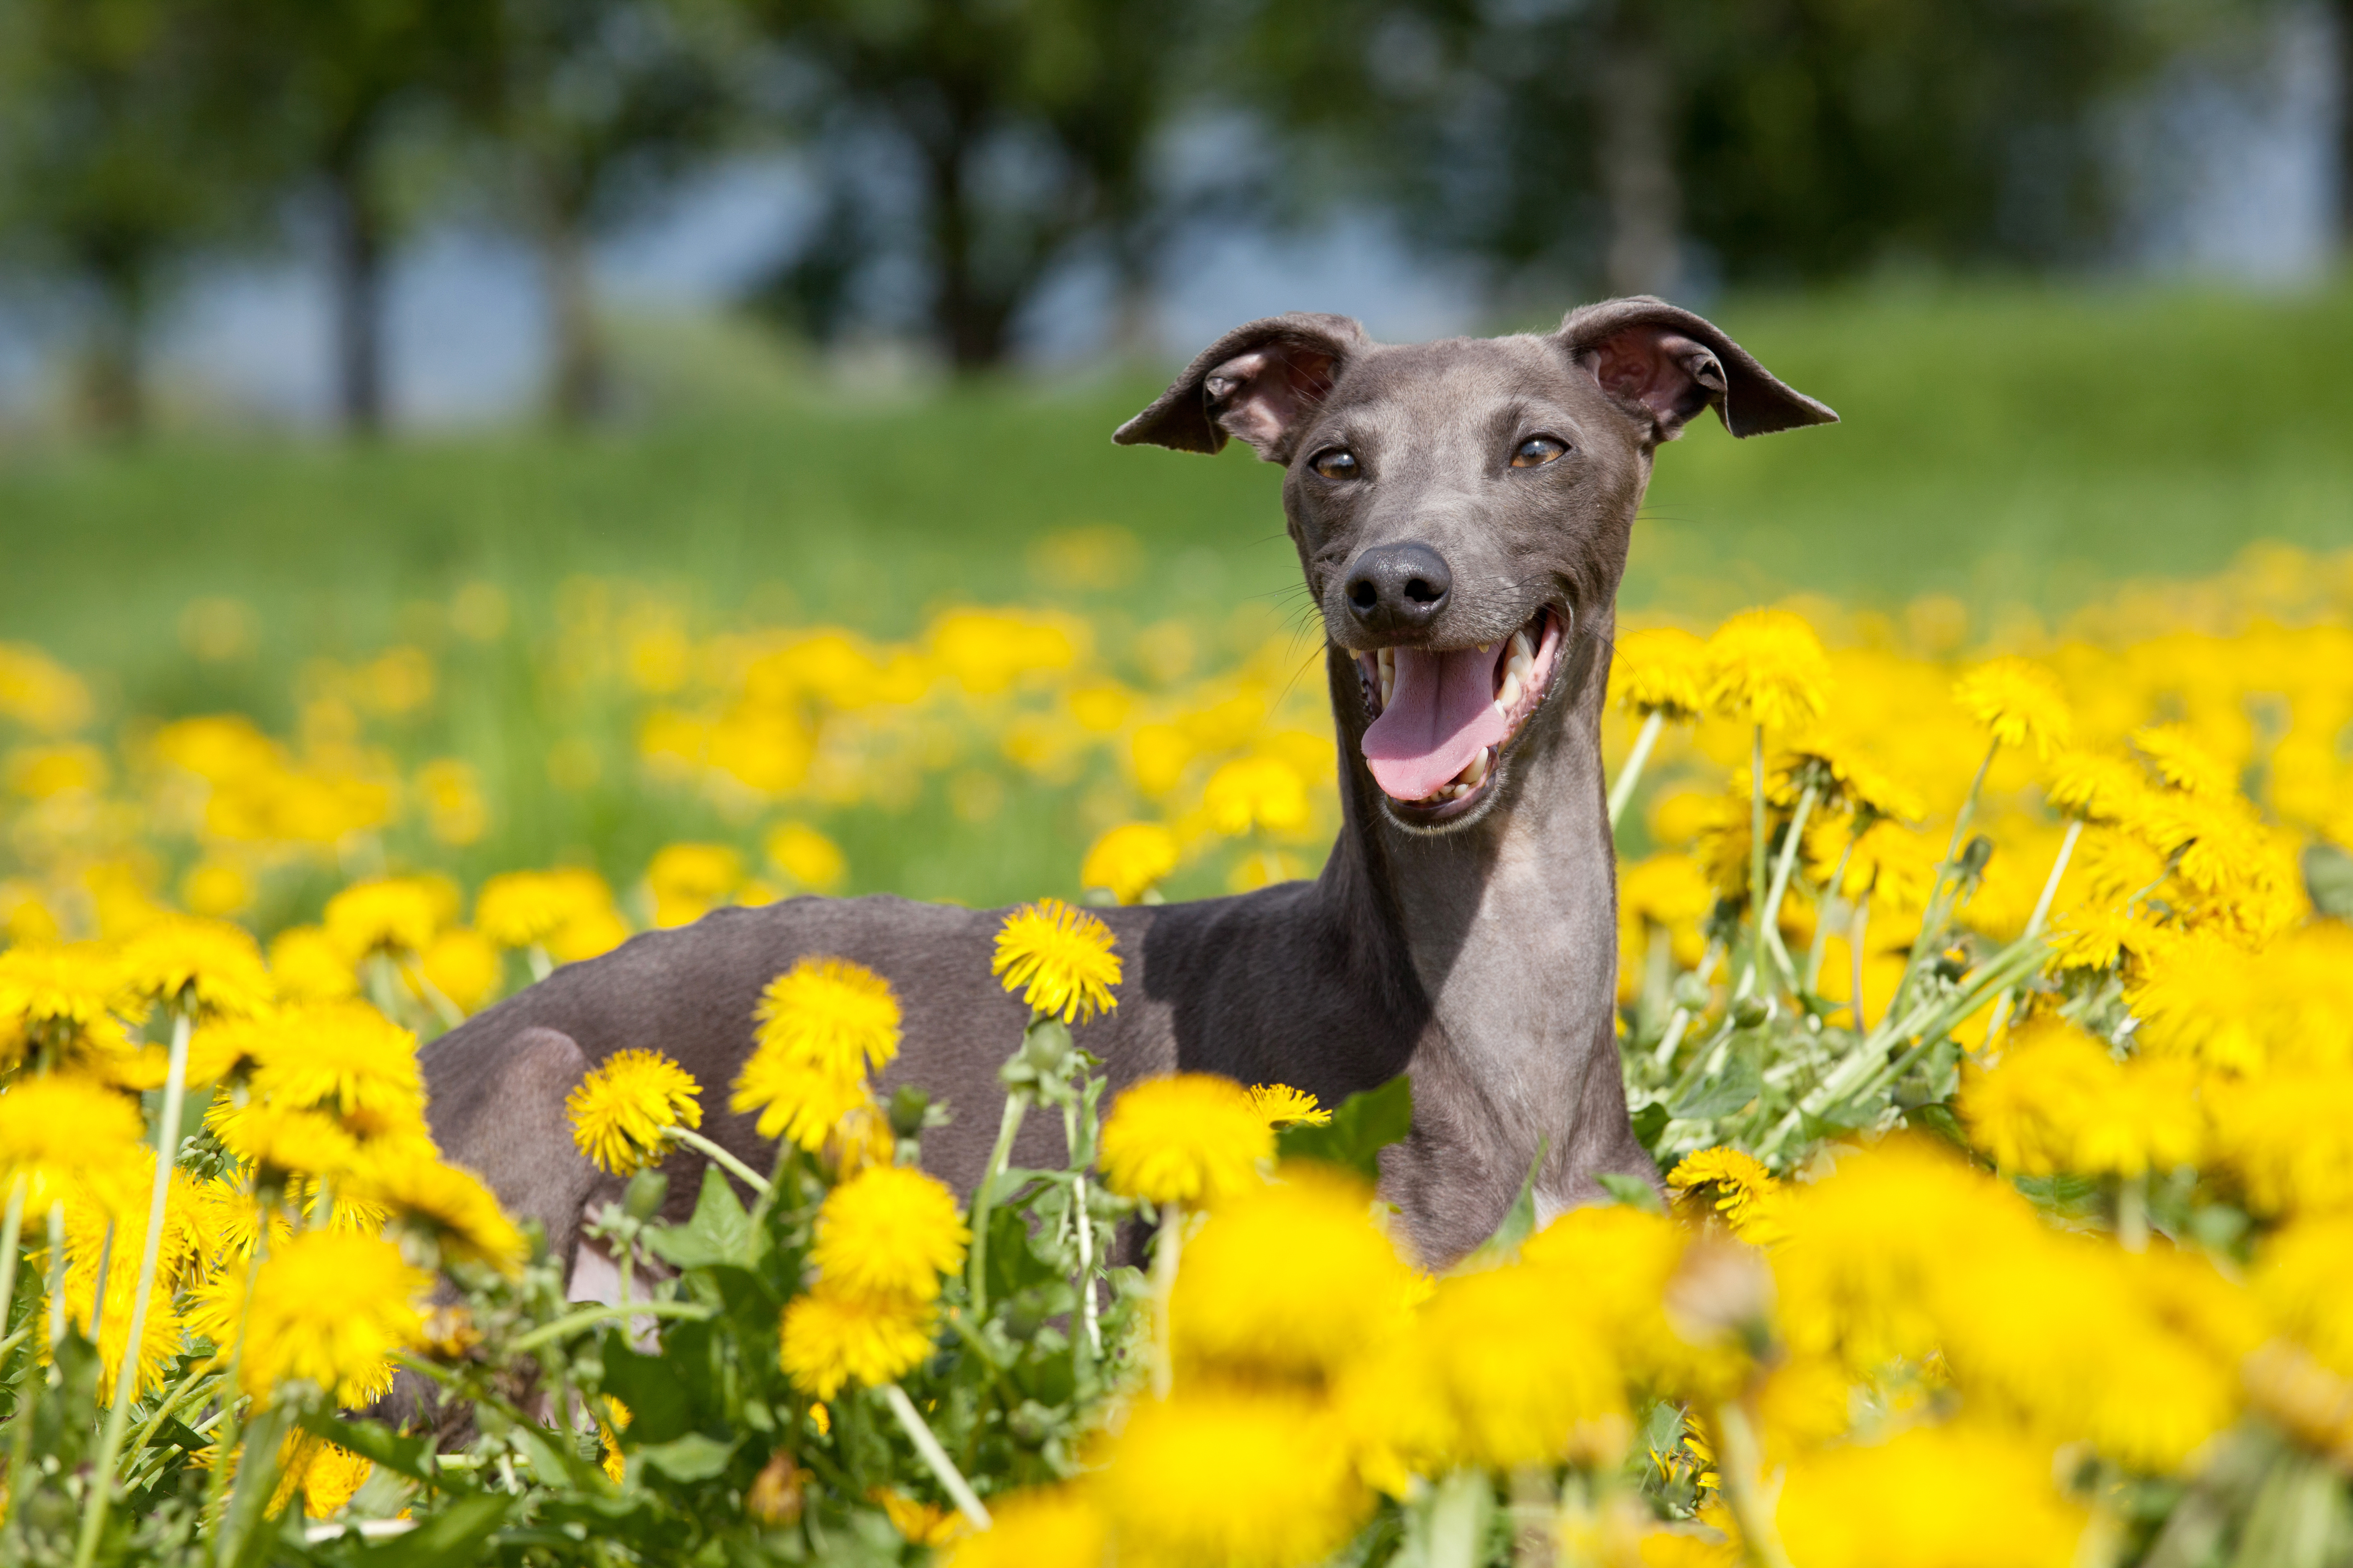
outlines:
M1984 628L2005 604L2054 614L2120 576L2212 571L2257 538L2353 543L2353 289L1857 292L1727 301L1715 317L1845 423L1732 442L1706 421L1661 451L1633 609L1704 621L1793 590L1880 607L1944 592ZM19 447L0 451L0 637L89 672L111 715L235 705L275 726L301 656L431 644L435 607L473 581L508 590L525 630L548 625L560 583L595 576L713 623L904 635L939 604L1049 597L1031 541L1118 524L1144 569L1080 602L1113 628L1289 611L1273 468L1238 447L1214 461L1111 447L1155 390L1134 376L901 402L812 388L598 437L374 449ZM254 607L254 658L186 656L179 618L205 595ZM468 658L414 736L475 757L499 790L501 830L464 870L588 849L626 875L664 837L734 830L699 804L548 792L534 748L562 712L520 658ZM927 797L835 827L861 886L1012 898L1068 879L1068 799L1016 785L988 825Z

